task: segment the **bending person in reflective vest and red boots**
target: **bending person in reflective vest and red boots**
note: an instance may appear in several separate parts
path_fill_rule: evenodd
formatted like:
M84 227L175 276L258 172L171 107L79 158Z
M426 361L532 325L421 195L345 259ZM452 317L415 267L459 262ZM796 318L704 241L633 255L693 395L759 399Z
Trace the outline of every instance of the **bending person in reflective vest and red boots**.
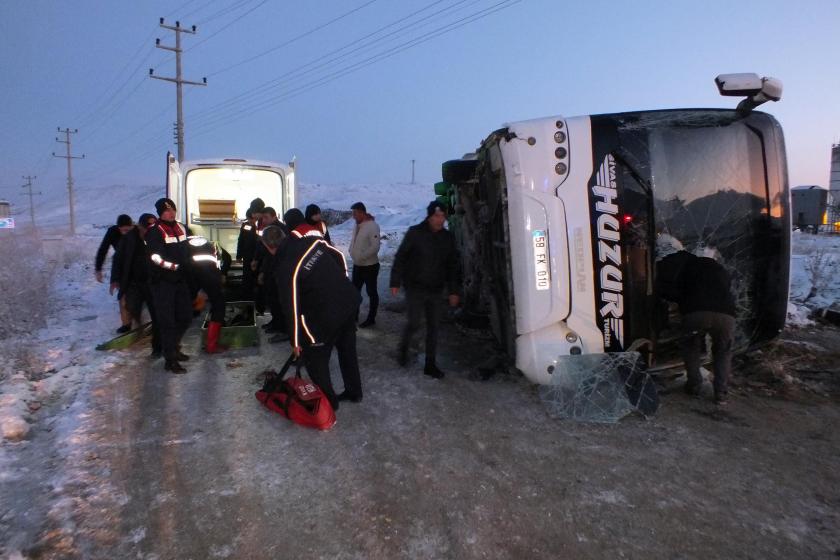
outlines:
M207 324L207 345L209 354L224 352L226 347L219 344L219 334L225 322L225 296L222 292L221 264L216 254L216 247L201 236L192 236L187 240L192 256L191 272L198 289L204 290L210 300L210 322Z

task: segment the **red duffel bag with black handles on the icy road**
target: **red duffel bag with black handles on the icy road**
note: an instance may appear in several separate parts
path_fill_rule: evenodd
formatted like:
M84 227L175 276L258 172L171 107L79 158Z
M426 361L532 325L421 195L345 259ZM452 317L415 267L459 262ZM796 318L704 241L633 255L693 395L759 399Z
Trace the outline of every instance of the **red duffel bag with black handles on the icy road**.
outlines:
M280 373L265 372L265 383L257 391L257 400L269 410L281 414L301 426L329 430L335 424L335 411L321 389L300 376L300 365L294 377L283 379L295 362L290 356Z

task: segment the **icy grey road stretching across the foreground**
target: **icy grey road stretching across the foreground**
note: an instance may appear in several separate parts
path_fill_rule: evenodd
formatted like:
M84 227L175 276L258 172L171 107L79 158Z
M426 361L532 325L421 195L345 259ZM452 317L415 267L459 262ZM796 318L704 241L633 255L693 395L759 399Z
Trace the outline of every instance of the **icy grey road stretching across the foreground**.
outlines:
M84 265L41 338L30 430L0 448L9 558L817 558L840 549L836 402L667 395L651 420L549 419L520 378L471 379L486 342L453 326L447 378L393 361L403 317L362 331L365 399L329 432L258 404L285 344L92 350L116 310ZM384 290L383 290L384 292ZM60 320L58 320L60 319ZM197 323L197 322L196 322ZM836 333L834 334L836 337ZM27 346L29 345L29 346ZM9 350L11 351L11 350ZM336 375L336 380L338 376ZM340 386L340 382L338 382Z

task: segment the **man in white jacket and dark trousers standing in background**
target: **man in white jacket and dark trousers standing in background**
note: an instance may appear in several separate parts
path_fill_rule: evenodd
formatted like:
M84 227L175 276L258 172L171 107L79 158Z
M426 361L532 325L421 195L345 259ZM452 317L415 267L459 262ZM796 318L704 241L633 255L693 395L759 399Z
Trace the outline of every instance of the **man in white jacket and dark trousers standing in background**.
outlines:
M350 241L350 258L353 259L353 285L359 292L366 287L369 306L368 316L360 325L367 328L376 324L376 309L379 307L379 292L376 278L379 276L379 225L361 202L350 207L356 227Z

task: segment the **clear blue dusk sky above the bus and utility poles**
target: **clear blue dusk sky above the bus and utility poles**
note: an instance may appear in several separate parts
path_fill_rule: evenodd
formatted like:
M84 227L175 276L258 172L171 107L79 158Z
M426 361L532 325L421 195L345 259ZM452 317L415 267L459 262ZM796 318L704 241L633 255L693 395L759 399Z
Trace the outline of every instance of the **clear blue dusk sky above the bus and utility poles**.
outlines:
M494 11L495 10L495 11ZM734 107L720 73L784 83L791 185L827 186L840 139L837 0L4 0L0 198L22 175L65 195L57 127L77 185L164 181L180 19L187 159L296 156L304 183L440 177L504 122L676 107ZM449 32L446 30L451 29ZM383 58L386 55L387 58Z

